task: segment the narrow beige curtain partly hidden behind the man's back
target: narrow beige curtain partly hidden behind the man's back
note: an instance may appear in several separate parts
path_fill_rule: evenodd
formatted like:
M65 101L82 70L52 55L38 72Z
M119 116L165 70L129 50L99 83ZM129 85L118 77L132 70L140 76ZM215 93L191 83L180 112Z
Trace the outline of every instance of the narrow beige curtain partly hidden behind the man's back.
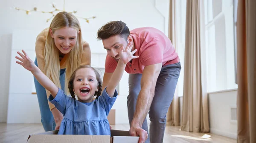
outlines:
M170 0L169 6L169 39L172 41L172 44L175 46L177 50L177 42L175 39L175 0ZM169 126L180 126L180 109L179 109L179 97L176 91L171 103L171 106L167 112L167 121L166 125Z

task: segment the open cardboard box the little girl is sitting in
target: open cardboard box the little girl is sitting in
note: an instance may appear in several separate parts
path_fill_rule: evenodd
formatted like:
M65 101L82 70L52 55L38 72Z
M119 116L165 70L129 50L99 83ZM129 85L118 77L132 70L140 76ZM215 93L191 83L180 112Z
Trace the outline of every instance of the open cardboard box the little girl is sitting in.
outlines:
M29 135L27 143L138 143L129 131L111 129L109 135L57 135L58 130Z

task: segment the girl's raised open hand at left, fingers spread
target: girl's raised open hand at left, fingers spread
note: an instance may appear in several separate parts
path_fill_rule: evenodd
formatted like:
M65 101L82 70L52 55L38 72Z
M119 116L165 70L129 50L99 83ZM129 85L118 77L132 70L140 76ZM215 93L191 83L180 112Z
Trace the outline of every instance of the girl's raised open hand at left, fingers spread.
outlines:
M20 52L17 52L21 58L18 56L15 56L16 59L20 60L20 62L16 61L16 63L22 65L25 69L33 72L37 66L31 59L29 59L29 57L27 56L24 50L22 50L22 52L24 53L24 55Z

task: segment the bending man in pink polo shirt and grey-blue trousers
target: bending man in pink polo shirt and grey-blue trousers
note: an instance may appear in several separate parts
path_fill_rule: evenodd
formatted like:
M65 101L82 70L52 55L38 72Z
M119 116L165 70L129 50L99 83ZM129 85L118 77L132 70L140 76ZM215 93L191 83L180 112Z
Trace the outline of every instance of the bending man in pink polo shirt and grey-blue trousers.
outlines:
M128 44L137 49L127 63L129 95L127 97L130 134L140 136L140 143L162 143L166 113L172 102L180 75L180 59L170 39L156 28L129 31L122 21L112 21L98 30L98 39L107 50L103 85L105 88L119 61L119 50ZM149 112L148 112L149 111ZM150 136L146 115L150 118Z

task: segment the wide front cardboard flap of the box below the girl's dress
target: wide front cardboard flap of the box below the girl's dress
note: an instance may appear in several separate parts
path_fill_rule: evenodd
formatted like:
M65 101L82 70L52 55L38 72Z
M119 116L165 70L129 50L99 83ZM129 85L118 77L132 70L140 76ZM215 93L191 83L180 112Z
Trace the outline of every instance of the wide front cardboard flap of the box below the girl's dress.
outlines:
M30 135L27 143L110 143L109 135Z

